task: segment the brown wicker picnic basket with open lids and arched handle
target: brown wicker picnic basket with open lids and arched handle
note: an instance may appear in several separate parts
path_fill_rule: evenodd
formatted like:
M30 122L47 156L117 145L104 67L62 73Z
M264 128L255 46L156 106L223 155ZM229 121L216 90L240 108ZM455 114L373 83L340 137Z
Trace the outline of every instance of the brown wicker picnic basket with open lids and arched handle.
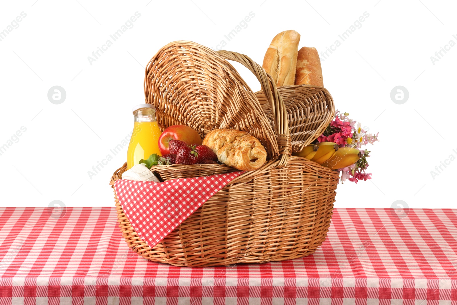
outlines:
M229 60L260 81L253 93ZM161 48L146 67L144 93L154 104L160 128L184 124L204 137L214 128L250 132L267 151L267 161L246 171L213 195L154 247L142 241L115 194L122 236L138 255L175 266L209 267L305 257L325 240L335 201L338 172L298 156L334 115L323 87L276 88L249 57L215 52L189 41ZM122 177L126 164L110 184ZM235 171L225 165L153 166L164 181Z

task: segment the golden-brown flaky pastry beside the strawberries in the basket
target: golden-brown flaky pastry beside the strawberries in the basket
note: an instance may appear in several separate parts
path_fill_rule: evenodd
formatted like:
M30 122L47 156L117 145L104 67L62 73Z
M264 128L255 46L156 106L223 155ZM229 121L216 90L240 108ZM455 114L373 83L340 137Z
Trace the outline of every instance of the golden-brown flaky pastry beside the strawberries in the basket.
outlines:
M266 161L266 150L258 139L245 131L214 129L203 145L211 148L219 161L241 171L254 171Z

